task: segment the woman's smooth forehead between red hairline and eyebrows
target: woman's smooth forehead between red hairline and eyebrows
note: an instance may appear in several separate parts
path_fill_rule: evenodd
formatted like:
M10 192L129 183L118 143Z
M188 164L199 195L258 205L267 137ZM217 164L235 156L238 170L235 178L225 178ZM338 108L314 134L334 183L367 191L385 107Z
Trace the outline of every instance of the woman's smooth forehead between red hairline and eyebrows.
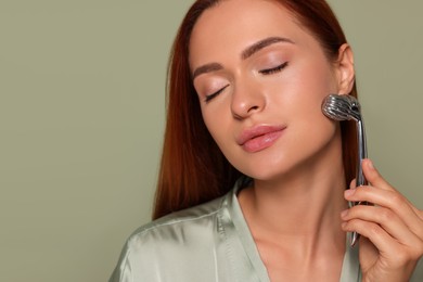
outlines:
M189 46L190 63L204 63L198 61L222 50L239 52L266 37L275 36L298 43L311 39L290 11L277 1L223 0L204 11L196 22Z

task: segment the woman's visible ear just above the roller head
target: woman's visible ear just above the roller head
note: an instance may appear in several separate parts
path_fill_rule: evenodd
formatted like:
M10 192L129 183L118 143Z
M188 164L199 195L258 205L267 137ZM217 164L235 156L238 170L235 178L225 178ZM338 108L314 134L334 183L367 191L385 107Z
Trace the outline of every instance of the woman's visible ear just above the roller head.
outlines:
M354 54L349 44L344 43L339 47L335 69L337 75L338 94L349 94L352 90L354 82L356 81Z

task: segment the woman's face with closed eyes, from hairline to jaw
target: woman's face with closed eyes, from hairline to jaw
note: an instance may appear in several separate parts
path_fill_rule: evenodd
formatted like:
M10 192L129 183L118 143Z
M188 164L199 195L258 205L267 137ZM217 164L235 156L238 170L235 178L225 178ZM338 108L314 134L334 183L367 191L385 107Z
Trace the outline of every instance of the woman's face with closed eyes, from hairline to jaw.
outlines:
M269 180L334 148L341 155L321 103L350 91L344 70L281 4L221 1L198 18L189 49L204 121L240 171Z

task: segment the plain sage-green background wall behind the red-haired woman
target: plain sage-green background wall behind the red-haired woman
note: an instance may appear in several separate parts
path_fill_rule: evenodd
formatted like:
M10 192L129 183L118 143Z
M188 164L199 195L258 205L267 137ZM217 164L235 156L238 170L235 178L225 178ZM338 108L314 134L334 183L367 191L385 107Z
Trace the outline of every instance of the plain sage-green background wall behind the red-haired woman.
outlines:
M330 1L369 154L423 207L422 1ZM149 221L165 75L192 0L0 0L0 281L106 281Z

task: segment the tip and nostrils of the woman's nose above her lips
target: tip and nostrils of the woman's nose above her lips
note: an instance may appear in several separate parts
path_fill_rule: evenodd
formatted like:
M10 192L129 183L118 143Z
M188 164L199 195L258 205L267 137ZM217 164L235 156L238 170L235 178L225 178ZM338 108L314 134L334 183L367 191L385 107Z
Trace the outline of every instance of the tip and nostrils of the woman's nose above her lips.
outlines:
M266 106L266 97L257 86L238 85L232 93L231 112L236 119L247 118L261 112Z

